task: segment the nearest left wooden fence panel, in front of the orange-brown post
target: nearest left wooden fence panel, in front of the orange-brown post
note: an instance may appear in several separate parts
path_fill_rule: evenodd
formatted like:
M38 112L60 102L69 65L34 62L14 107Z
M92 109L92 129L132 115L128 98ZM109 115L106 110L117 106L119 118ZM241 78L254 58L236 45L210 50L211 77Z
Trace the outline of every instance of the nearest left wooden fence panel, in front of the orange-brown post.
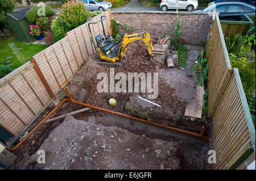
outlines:
M27 62L0 79L0 125L16 136L50 100L34 65Z

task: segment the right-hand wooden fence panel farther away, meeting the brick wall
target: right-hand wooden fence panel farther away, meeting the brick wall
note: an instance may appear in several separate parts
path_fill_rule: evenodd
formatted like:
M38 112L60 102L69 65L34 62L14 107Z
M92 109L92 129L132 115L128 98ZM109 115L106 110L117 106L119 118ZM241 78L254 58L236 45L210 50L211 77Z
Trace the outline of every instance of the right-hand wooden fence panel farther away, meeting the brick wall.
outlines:
M226 50L224 36L222 34L218 15L212 23L212 35L209 36L207 45L208 56L208 116L212 117L217 108L221 95L232 74L228 50Z

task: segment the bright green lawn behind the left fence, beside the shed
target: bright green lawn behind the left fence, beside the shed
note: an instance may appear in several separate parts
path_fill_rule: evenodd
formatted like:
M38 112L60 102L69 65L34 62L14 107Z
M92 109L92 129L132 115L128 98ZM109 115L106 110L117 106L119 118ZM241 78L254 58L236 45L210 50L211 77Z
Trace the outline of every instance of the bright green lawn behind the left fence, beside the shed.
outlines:
M6 62L10 60L10 62L6 63L5 65L9 65L13 63L13 65L10 65L11 69L19 68L22 65L22 63L18 60L16 55L12 53L13 50L11 50L11 48L9 47L9 44L8 44L9 42L13 42L17 48L22 48L19 51L20 53L23 54L26 61L29 61L30 58L32 58L32 56L34 56L35 54L41 52L42 50L48 47L48 45L37 45L37 44L26 45L26 43L18 41L16 39L4 40L0 37L0 60L1 62ZM6 58L9 56L11 56L12 58Z

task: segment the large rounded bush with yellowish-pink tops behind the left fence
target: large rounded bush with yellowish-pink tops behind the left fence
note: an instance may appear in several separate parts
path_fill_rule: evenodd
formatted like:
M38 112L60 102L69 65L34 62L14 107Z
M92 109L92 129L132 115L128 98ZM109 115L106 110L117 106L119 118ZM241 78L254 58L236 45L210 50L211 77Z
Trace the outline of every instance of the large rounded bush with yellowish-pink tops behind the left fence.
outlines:
M81 1L68 1L68 3L65 3L61 7L59 14L59 17L64 22L65 26L69 30L72 30L73 28L86 23L89 11Z

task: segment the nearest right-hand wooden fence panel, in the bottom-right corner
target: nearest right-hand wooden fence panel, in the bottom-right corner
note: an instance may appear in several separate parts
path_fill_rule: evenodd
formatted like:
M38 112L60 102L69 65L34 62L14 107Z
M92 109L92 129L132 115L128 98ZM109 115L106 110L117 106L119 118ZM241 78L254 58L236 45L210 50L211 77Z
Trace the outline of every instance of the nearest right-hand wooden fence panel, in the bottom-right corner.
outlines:
M238 69L234 69L212 120L215 169L230 169L241 155L255 151L255 129Z

